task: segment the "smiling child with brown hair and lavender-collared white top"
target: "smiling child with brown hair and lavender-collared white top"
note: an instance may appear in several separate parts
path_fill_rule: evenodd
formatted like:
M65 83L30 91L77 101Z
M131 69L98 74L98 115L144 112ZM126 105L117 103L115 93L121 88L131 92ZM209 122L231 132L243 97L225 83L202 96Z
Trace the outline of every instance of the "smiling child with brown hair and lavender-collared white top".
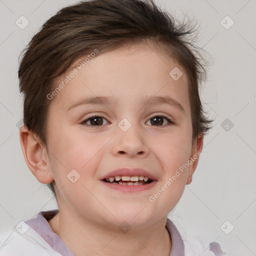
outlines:
M224 255L167 218L212 121L188 28L152 0L89 0L33 36L18 70L20 143L58 209L20 221L1 256Z

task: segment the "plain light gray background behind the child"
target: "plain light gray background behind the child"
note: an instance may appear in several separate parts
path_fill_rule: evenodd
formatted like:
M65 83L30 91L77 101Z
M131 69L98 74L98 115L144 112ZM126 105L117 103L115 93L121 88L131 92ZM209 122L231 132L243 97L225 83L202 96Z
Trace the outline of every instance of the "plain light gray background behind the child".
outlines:
M57 207L48 188L26 166L21 151L16 127L22 117L17 58L44 21L74 2L0 0L0 232ZM215 118L214 127L204 137L192 183L169 217L181 234L185 230L217 241L233 255L256 255L256 2L156 3L176 16L183 11L194 18L200 25L198 46L213 58L201 98L209 117ZM24 29L15 24L21 15L29 21ZM234 21L228 29L221 24L226 15ZM230 24L228 19L224 22ZM221 229L226 220L225 232L234 226L229 234Z

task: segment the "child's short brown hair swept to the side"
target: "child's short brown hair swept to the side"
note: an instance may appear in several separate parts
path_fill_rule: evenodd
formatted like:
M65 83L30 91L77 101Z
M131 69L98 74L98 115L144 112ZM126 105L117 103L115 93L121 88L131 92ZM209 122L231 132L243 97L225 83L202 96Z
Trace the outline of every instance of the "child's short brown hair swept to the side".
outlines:
M190 22L177 24L153 0L87 0L60 9L49 18L22 51L18 77L23 93L24 125L47 146L45 134L47 94L56 79L78 58L135 43L151 42L172 56L185 70L191 108L192 140L205 134L210 122L204 116L198 85L206 79L199 47L187 36ZM53 183L48 184L55 194Z

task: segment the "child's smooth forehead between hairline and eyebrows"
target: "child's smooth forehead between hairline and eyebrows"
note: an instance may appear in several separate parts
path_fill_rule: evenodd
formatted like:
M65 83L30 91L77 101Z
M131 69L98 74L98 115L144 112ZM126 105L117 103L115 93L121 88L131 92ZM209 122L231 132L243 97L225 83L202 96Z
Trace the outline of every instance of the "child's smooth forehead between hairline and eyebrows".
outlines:
M82 100L83 97L110 95L118 104L128 101L139 103L141 98L154 95L169 96L180 102L186 111L189 108L185 70L152 45L135 44L102 54L99 52L86 64L84 59L77 59L59 77L58 83L73 70L77 71L54 99L65 108L70 107L71 101Z

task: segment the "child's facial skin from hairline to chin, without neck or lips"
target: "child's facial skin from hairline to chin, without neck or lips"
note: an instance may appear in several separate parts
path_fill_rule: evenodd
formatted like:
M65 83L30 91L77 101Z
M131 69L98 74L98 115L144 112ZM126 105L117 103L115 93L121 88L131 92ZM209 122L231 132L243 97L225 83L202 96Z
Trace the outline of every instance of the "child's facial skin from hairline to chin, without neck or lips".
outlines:
M174 67L183 72L177 80L169 75ZM96 96L111 96L117 103L70 108L80 100ZM184 111L166 103L140 103L151 96L171 97ZM82 123L92 115L99 118ZM164 117L154 119L154 115L165 115L174 124L167 125ZM120 128L120 124L126 128L128 122L131 126L126 131ZM50 102L46 134L50 151L47 162L57 190L61 189L59 210L116 225L123 220L130 225L148 224L165 217L182 195L188 169L179 171L170 185L167 181L198 146L191 144L184 70L148 46L120 48L90 60ZM157 181L150 189L137 192L116 190L102 183L102 176L120 167L145 169ZM191 164L189 172L195 167ZM80 175L76 180L74 172L75 182L67 178L73 169ZM165 189L161 190L164 184ZM161 195L154 196L159 189Z

